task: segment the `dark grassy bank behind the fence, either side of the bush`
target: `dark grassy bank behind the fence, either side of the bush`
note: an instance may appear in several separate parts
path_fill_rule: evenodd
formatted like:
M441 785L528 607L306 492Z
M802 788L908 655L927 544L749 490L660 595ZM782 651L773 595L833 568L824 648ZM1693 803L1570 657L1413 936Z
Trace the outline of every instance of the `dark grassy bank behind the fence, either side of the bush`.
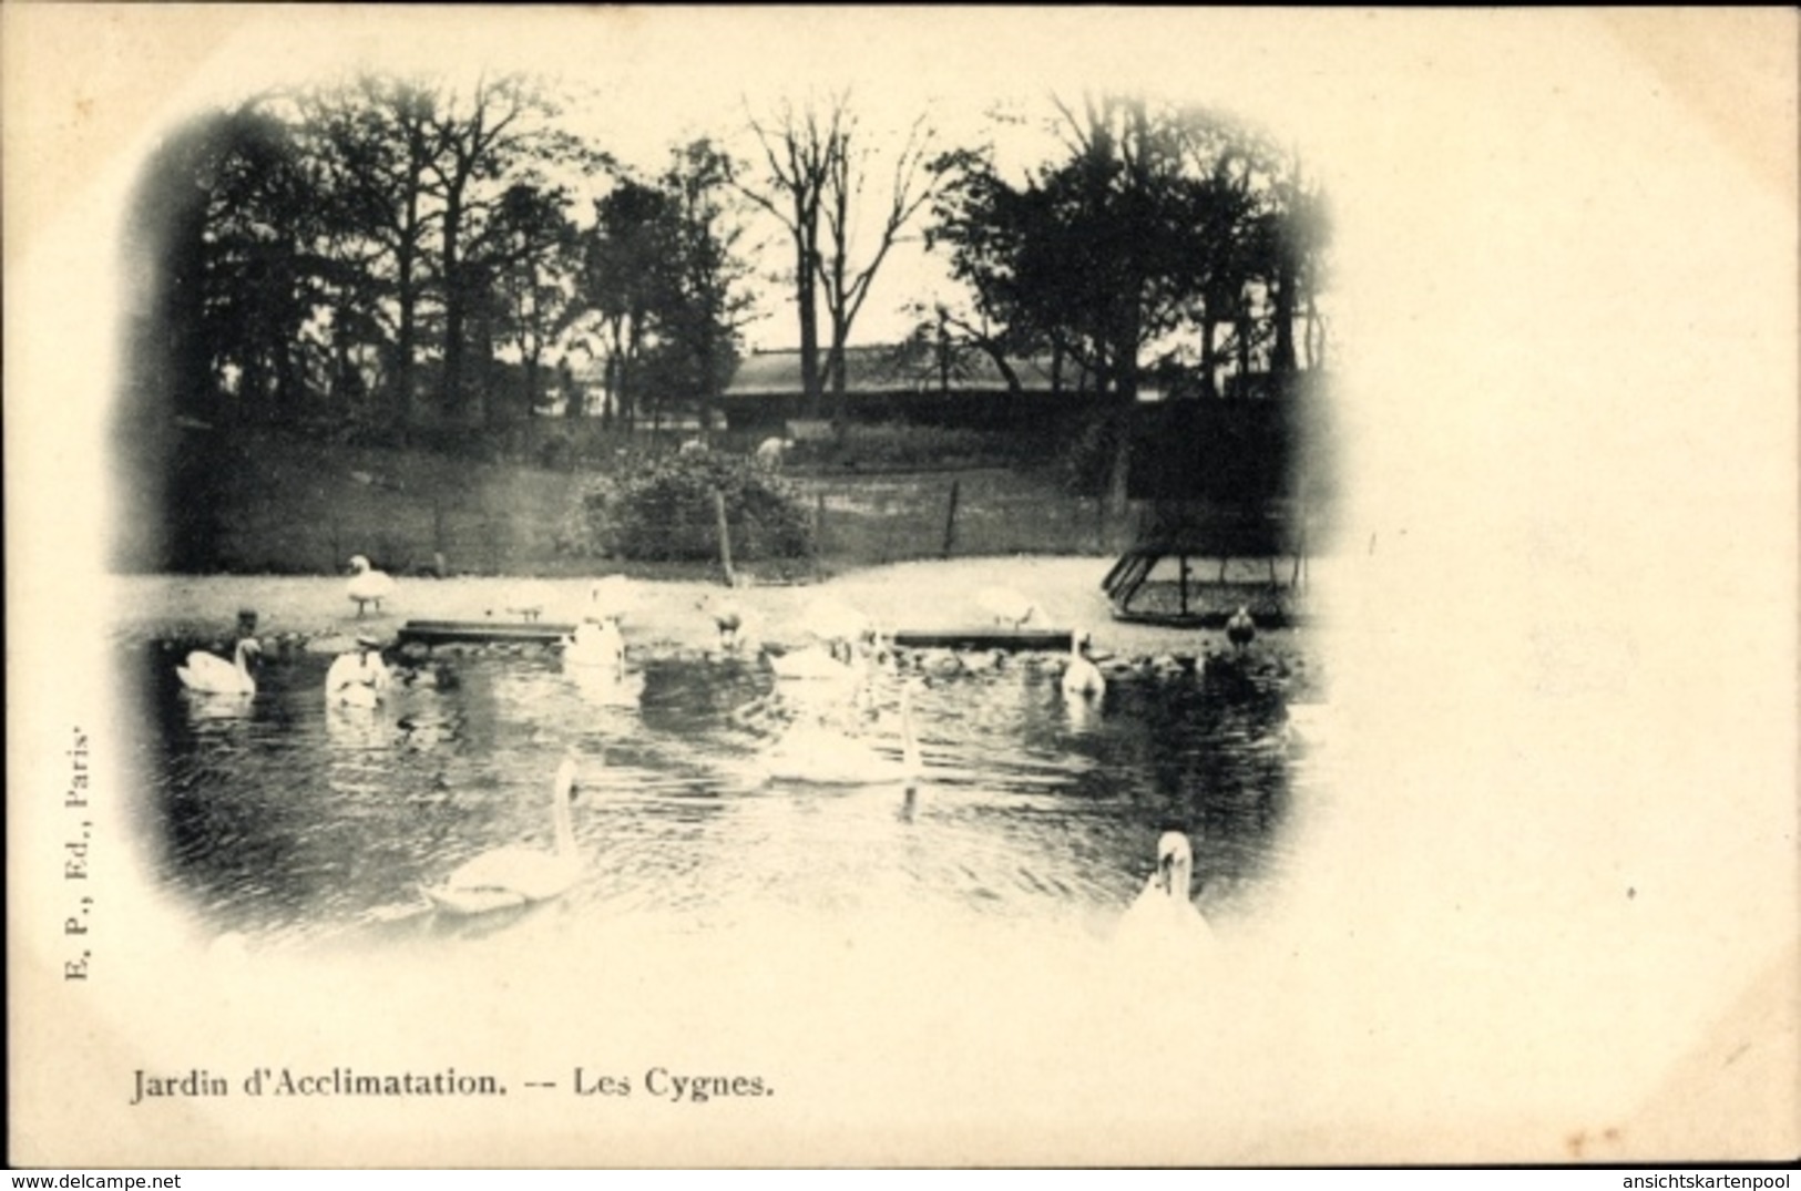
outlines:
M191 432L214 435L218 432ZM596 563L647 578L699 578L701 565L630 567L596 560L575 515L605 471L479 462L423 450L238 434L191 443L204 457L200 502L209 549L193 570L331 574L351 554L418 574L584 576ZM814 563L751 565L796 579L893 561L982 554L1100 554L1118 529L1093 498L1064 493L1046 471L792 470L816 518Z

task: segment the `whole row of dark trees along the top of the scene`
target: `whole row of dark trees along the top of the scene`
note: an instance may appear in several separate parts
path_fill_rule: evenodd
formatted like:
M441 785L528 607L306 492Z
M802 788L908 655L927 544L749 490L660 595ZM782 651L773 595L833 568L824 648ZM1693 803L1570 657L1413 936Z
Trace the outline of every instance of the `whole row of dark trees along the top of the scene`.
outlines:
M580 399L585 354L598 408L571 412L632 426L719 407L762 279L794 299L809 407L843 421L845 347L915 234L964 288L917 311L940 376L983 354L1018 387L1048 356L1055 383L1126 403L1145 376L1219 396L1324 367L1329 219L1295 153L1205 108L1050 108L1025 167L924 117L872 133L839 92L747 108L645 171L529 76L256 95L146 166L133 383L207 423L418 441Z

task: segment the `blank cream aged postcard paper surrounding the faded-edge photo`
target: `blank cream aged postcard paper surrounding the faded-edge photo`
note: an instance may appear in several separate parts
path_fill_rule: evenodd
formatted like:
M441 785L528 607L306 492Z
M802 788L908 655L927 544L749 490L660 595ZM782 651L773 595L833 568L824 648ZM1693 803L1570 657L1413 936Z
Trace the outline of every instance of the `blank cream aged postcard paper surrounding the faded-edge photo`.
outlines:
M5 34L11 1153L49 1166L1480 1162L1792 1157L1796 16L18 5ZM353 61L621 79L1142 86L1293 137L1338 214L1351 500L1326 570L1344 788L1239 1013L875 939L611 941L421 973L207 959L137 873L99 543L122 196L232 88ZM630 121L625 121L627 124ZM61 979L70 732L95 972ZM1630 892L1628 892L1630 891ZM915 950L917 948L917 950ZM582 964L639 973L585 995ZM771 972L774 975L771 975ZM974 981L982 973L983 981ZM989 979L994 977L994 979ZM915 1015L922 1000L962 1011ZM618 988L618 984L614 984ZM128 1108L256 1063L765 1072L576 1099ZM535 1065L535 1067L533 1067Z

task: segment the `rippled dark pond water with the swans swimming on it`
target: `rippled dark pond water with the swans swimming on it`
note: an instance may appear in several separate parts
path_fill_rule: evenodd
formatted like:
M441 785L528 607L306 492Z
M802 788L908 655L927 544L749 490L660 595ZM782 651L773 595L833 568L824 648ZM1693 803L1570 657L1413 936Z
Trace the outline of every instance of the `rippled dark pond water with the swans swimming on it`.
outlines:
M220 698L180 687L178 655L135 660L153 869L209 930L258 946L457 937L420 889L490 847L548 849L571 747L584 869L560 921L684 930L879 903L1106 923L1165 826L1196 842L1198 903L1230 916L1281 882L1309 781L1281 684L1255 669L1122 676L1090 711L1030 657L915 680L908 792L767 777L814 693L756 657L634 651L643 693L612 705L557 657L463 655L443 660L454 682L360 711L324 705L326 657L270 657L254 698ZM837 712L884 757L900 756L900 682Z

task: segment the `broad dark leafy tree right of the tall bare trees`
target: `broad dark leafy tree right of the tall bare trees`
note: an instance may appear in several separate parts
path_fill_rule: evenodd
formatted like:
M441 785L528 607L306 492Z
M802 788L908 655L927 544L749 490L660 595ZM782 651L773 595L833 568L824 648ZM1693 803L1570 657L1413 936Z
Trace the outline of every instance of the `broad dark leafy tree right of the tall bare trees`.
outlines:
M1023 178L1003 176L991 148L933 162L942 189L928 245L949 248L983 336L1050 344L1118 412L1151 358L1176 360L1169 344L1189 335L1199 387L1216 392L1221 324L1239 372L1253 354L1291 371L1297 311L1315 311L1326 243L1324 205L1291 160L1201 108L1100 95L1055 112L1063 155ZM1127 437L1111 439L1120 509Z

